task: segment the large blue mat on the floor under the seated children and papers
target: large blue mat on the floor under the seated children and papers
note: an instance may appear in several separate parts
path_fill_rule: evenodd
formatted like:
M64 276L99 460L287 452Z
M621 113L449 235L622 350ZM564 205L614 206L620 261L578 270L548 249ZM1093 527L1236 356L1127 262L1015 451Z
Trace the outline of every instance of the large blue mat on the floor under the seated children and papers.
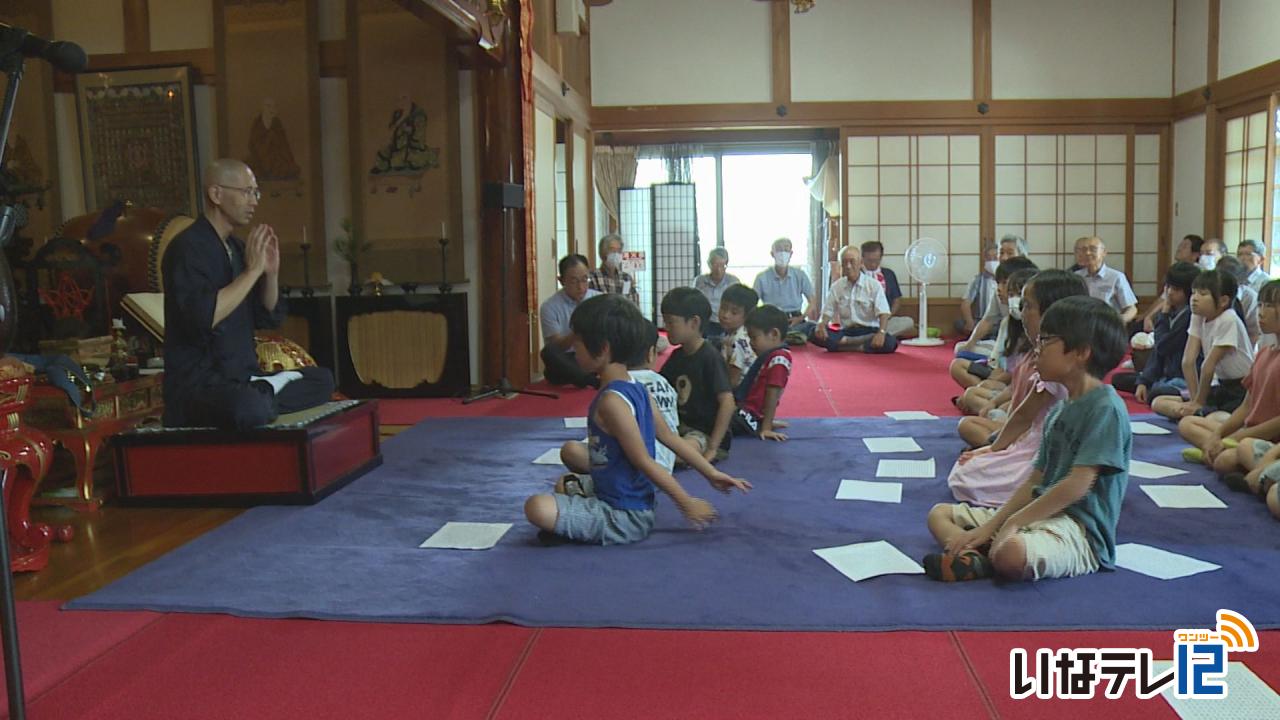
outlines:
M1161 420L1157 420L1161 421ZM1167 425L1166 425L1167 427ZM933 551L924 516L950 500L961 450L955 419L794 420L787 443L735 442L724 469L755 483L710 498L721 521L689 529L659 498L658 525L626 547L540 547L525 497L557 468L530 460L582 430L559 419L429 420L392 438L385 464L310 507L259 507L72 609L229 612L252 618L768 630L1199 628L1219 607L1280 628L1280 524L1203 468L1130 483L1120 542L1222 565L1161 582L1119 570L1041 583L942 584L923 575L852 583L812 551L888 539ZM913 436L925 455L872 456L863 437ZM1139 459L1185 466L1176 436L1138 436ZM904 480L901 505L833 500L841 478L873 479L879 457L937 457L938 475ZM1201 483L1229 510L1161 510L1143 482ZM714 497L713 497L714 496ZM512 521L498 547L419 550L449 520Z

